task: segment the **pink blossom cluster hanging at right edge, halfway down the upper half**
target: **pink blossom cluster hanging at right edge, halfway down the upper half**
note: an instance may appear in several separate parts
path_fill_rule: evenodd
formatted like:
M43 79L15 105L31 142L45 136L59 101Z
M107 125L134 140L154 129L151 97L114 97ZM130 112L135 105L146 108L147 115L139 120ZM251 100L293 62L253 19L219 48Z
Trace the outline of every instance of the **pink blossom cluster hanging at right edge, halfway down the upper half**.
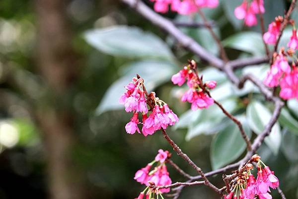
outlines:
M285 51L284 48L281 48L278 54L274 54L274 61L267 72L264 84L268 87L280 85L280 97L285 100L298 99L298 69L295 63L292 67L289 65L287 56L294 56L294 50Z

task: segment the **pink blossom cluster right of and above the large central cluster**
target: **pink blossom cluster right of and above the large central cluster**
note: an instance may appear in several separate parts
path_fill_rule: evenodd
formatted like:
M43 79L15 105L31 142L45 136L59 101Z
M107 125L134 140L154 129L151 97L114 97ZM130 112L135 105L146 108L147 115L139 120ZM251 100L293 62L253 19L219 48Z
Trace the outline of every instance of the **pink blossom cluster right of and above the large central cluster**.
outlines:
M197 110L208 108L214 104L214 100L209 96L207 89L216 87L216 81L206 81L203 83L203 75L199 77L195 61L189 61L189 65L184 66L177 74L172 76L172 82L181 86L187 80L189 89L184 93L181 101L192 103L191 109Z

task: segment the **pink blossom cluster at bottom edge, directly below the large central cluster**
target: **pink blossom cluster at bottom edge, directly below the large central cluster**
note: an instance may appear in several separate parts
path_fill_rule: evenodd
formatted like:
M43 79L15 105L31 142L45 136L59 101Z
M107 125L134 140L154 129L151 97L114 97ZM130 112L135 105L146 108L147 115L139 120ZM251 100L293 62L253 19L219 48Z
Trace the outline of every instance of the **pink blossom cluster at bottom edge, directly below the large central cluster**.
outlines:
M158 154L155 159L150 162L146 167L138 170L135 174L135 180L142 185L146 185L146 189L140 193L137 199L153 199L154 195L161 196L163 193L168 193L170 188L158 189L157 186L166 186L172 184L172 180L169 177L165 161L170 158L171 154L168 151L158 150ZM152 166L156 163L156 166L150 171ZM147 193L146 193L147 191ZM145 194L146 193L146 194Z

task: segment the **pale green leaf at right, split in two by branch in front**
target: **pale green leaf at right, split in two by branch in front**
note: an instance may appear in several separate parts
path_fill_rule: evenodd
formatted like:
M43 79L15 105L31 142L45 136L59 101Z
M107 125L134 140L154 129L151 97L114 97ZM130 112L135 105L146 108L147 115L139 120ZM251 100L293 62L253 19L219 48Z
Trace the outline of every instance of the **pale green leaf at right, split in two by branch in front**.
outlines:
M257 134L262 133L271 116L271 112L264 105L257 101L251 102L246 109L246 117L249 127ZM279 123L277 122L273 126L269 136L265 138L265 143L276 155L279 151L281 141L282 135L280 132Z

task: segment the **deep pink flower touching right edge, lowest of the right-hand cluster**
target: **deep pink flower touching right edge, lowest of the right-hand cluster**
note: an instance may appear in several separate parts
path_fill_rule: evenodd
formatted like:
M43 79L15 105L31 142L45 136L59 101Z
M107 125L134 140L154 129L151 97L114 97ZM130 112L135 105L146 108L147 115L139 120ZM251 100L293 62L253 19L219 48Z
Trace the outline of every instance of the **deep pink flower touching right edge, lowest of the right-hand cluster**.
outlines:
M287 100L296 97L298 99L298 70L296 67L293 68L290 74L286 74L282 78L280 85L281 98Z

